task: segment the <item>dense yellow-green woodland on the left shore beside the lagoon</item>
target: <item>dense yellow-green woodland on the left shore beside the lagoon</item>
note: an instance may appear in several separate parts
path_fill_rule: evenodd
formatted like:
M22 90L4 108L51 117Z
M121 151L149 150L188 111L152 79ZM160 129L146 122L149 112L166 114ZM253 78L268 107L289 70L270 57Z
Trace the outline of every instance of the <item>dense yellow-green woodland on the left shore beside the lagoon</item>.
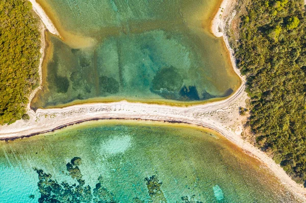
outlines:
M0 125L25 113L28 96L38 83L40 33L31 4L0 1ZM36 85L37 86L37 85Z

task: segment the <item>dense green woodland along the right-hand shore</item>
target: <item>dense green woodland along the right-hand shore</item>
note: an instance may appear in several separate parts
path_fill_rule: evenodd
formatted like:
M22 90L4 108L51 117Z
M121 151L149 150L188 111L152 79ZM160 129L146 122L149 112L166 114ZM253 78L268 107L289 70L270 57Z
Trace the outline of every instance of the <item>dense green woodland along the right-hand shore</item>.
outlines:
M259 147L273 155L294 180L303 183L306 180L303 1L240 0L238 10L239 31L232 32L232 45L238 67L247 76L251 130Z

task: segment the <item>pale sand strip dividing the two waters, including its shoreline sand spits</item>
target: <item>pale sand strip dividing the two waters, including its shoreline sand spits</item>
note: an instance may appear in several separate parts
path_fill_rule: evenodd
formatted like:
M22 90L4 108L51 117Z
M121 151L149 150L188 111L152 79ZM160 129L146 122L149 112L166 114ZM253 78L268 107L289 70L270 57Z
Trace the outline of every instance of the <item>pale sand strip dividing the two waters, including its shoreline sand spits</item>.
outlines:
M32 3L33 10L39 15L47 30L59 36L56 27L40 5L35 0L29 1ZM216 37L223 36L226 46L231 53L234 70L240 76L234 62L233 50L228 45L226 36L223 35L224 21L228 19L225 13L233 14L233 12L226 11L226 8L231 7L232 4L234 2L231 0L224 0L222 2L212 21L211 30ZM281 166L241 137L243 130L242 124L245 123L246 118L239 115L238 108L240 106L244 107L245 100L247 99L244 91L245 78L241 77L241 79L242 85L230 98L191 107L174 107L121 101L114 103L87 103L64 108L37 109L36 112L29 109L28 114L30 115L30 120L19 120L9 126L0 126L0 139L48 132L66 125L93 119L141 119L199 125L219 132L228 140L242 148L246 153L259 159L289 190L296 194L303 202L306 202L306 190L302 185L295 183Z

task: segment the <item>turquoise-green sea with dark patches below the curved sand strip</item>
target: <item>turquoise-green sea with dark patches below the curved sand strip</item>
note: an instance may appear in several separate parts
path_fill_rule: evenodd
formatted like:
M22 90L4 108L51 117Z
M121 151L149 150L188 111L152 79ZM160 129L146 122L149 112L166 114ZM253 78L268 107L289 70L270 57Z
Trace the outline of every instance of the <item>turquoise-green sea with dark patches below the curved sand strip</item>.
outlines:
M0 149L0 202L298 202L261 163L202 128L91 122Z

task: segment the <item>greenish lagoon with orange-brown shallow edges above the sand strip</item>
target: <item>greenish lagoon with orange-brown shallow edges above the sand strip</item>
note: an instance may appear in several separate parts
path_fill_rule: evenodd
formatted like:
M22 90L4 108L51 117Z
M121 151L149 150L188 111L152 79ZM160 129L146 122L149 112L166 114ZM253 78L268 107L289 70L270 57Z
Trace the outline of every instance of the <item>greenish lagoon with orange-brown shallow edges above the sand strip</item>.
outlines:
M43 90L31 106L122 99L176 105L240 85L222 39L209 32L219 1L38 1L46 33Z

